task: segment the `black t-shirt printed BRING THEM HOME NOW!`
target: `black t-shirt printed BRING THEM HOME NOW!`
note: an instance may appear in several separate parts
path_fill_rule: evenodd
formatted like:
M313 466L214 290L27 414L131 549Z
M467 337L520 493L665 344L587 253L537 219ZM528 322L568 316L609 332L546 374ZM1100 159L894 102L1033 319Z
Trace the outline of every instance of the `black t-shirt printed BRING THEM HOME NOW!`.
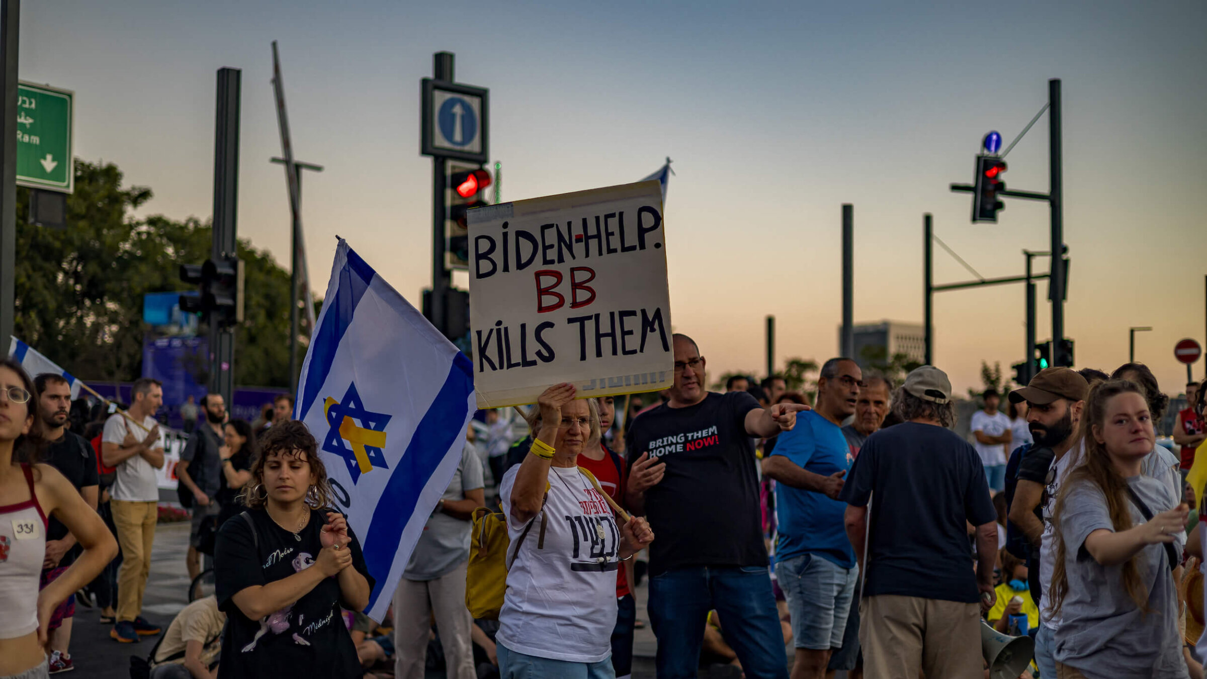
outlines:
M759 528L758 471L746 391L710 393L686 408L666 404L634 418L625 436L629 465L648 452L666 475L646 491L646 518L657 538L649 573L693 565L766 565Z

